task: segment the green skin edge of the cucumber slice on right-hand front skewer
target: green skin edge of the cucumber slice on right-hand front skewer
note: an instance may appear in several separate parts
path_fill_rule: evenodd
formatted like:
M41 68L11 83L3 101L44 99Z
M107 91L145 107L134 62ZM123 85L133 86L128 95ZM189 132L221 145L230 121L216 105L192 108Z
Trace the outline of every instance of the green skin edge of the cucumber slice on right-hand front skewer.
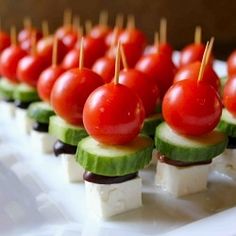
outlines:
M228 138L227 136L225 136L225 142L222 142L220 144L217 143L216 145L208 147L190 148L190 147L177 146L172 143L165 142L159 138L158 133L160 125L156 128L156 134L155 134L156 149L161 154L166 155L168 158L172 160L192 162L192 163L212 160L214 157L221 154L225 150L228 144Z

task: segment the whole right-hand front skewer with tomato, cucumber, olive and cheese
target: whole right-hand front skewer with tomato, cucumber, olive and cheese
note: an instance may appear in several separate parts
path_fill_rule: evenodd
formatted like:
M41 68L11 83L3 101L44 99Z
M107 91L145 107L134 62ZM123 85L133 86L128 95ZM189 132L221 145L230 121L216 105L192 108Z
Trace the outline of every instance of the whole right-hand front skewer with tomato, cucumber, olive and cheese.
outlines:
M166 122L156 129L161 155L155 181L177 197L206 189L211 161L227 146L227 136L213 130L220 120L221 100L202 81L212 44L206 46L198 79L181 80L167 91L162 110Z

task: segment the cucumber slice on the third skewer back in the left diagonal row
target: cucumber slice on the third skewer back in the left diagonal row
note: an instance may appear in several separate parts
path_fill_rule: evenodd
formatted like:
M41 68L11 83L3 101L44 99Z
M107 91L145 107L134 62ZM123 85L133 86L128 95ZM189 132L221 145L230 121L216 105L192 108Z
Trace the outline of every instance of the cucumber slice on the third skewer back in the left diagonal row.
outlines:
M27 115L40 123L49 123L49 118L55 115L52 107L46 102L33 102L27 109Z

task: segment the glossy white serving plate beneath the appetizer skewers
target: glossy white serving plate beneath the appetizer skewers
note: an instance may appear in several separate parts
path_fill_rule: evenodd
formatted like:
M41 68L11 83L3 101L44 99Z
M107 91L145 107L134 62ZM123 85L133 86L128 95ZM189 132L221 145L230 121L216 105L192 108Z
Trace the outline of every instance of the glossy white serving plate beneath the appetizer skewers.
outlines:
M216 62L220 75L224 63ZM234 235L236 173L210 173L208 190L176 199L140 172L143 207L98 221L86 214L84 185L64 179L60 159L40 155L13 121L0 120L1 235Z

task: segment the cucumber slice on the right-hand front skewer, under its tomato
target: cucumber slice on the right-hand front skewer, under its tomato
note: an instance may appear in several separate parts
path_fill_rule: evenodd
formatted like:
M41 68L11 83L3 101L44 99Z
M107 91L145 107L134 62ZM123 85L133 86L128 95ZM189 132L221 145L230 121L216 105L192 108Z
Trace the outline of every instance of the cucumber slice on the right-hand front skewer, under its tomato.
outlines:
M199 137L183 136L165 122L156 128L155 134L157 150L170 159L183 162L211 160L225 150L227 142L227 135L217 130Z

